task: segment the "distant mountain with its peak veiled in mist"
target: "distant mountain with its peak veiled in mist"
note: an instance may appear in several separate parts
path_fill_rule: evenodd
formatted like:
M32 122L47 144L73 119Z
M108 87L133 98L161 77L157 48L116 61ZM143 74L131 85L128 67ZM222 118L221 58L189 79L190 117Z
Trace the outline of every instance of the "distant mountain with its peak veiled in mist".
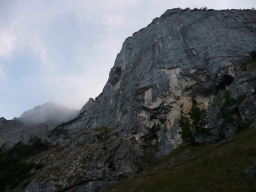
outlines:
M75 118L78 111L47 102L42 106L24 112L20 118L0 118L0 147L7 149L19 143L28 142L35 136L44 136L57 125Z

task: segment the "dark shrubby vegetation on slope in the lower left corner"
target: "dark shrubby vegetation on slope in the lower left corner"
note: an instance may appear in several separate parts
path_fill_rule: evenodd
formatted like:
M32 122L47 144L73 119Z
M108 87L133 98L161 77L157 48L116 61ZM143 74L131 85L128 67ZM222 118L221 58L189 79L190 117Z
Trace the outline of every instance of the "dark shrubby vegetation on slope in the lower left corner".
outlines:
M0 191L14 189L33 175L33 168L39 170L44 164L26 163L26 159L50 148L49 143L31 138L30 145L17 143L10 150L0 154ZM24 184L26 186L26 183Z

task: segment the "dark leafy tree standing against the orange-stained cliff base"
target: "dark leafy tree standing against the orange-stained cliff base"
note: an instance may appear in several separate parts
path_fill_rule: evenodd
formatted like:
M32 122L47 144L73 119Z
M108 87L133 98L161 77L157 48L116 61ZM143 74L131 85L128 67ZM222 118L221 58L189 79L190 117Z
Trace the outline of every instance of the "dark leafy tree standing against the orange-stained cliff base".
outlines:
M207 113L205 109L200 109L193 102L191 111L188 114L184 114L181 111L179 120L181 131L181 138L183 141L196 144L197 137L205 137L209 135L209 129L205 128L207 125Z

